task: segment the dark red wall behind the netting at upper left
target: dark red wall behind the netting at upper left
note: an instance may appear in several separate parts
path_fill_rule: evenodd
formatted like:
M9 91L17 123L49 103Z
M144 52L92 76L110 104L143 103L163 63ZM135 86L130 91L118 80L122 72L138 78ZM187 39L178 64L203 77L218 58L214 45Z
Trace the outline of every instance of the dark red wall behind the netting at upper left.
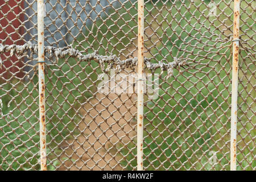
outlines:
M13 10L11 10L13 8ZM24 27L21 26L21 23L24 22L24 14L20 13L24 9L23 0L9 0L4 1L0 0L0 24L3 27L0 27L0 43L2 44L18 44L23 45L24 41L22 35L24 34ZM5 16L4 16L5 15ZM15 30L17 32L15 32ZM7 36L10 38L7 38ZM3 39L6 41L3 42ZM22 69L19 71L19 68L22 68L24 65L23 59L18 60L18 58L13 55L9 60L6 60L6 56L10 56L10 53L4 53L0 55L3 64L6 68L9 68L9 71L6 71L4 67L0 69L0 73L3 73L3 77L10 78L12 75L16 77L23 77L24 73ZM11 73L14 74L11 74Z

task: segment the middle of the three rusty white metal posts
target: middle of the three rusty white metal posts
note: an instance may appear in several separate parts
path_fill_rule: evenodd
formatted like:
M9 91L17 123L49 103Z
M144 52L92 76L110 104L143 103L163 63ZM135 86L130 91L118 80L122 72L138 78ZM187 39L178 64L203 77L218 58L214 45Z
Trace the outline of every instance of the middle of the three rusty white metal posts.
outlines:
M138 0L137 170L143 170L144 0Z

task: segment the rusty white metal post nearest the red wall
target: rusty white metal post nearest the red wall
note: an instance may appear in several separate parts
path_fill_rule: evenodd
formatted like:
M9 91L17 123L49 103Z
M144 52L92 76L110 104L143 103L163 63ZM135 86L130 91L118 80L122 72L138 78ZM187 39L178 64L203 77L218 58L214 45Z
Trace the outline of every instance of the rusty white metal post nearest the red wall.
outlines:
M46 171L46 97L44 84L44 0L38 0L38 77L41 171Z

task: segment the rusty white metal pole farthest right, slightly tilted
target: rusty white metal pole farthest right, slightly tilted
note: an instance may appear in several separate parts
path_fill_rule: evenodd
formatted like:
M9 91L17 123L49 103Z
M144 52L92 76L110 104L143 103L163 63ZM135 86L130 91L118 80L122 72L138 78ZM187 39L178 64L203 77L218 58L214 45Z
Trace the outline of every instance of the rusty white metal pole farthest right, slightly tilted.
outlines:
M237 92L238 92L238 51L239 51L240 0L234 0L232 101L230 133L230 170L237 169Z

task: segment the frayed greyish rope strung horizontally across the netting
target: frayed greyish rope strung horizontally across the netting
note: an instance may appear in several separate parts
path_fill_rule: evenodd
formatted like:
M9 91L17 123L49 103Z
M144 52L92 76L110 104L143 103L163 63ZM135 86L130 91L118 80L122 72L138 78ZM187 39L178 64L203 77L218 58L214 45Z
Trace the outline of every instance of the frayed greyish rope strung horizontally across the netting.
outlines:
M11 56L13 56L14 53L16 53L17 55L24 55L24 53L27 53L28 51L31 51L31 53L37 53L38 45L32 44L31 42L27 42L23 46L18 46L14 44L0 44L0 53L10 52ZM122 71L125 68L135 68L138 62L137 57L129 58L126 60L120 60L116 55L102 56L98 55L97 53L89 53L87 55L83 55L79 50L72 48L72 46L64 48L46 46L44 47L44 53L48 53L49 56L54 56L56 62L59 58L64 58L65 56L76 57L80 61L94 60L100 64L102 72L108 72L111 68L113 68L113 65L117 65L115 69L118 72ZM146 68L150 69L151 71L160 68L162 73L163 71L167 71L168 77L172 76L174 68L180 68L184 67L185 65L188 65L186 60L177 59L176 57L174 57L174 61L172 61L171 63L163 63L162 61L159 61L158 63L151 63L150 60L151 59L144 58L144 64L146 65ZM104 63L108 63L106 69ZM0 68L1 67L2 60L0 58Z

